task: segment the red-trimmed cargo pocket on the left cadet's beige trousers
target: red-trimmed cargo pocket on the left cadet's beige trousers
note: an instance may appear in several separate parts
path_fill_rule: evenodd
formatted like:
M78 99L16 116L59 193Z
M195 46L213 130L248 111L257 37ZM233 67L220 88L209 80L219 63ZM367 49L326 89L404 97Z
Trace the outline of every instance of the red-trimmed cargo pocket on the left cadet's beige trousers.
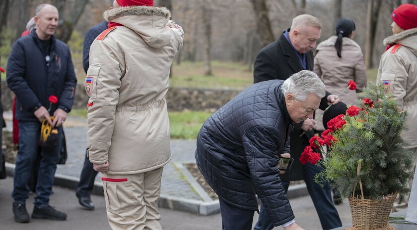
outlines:
M102 177L101 180L103 181L104 194L107 198L107 211L118 213L120 211L128 211L135 208L136 204L133 195L133 185L129 177Z

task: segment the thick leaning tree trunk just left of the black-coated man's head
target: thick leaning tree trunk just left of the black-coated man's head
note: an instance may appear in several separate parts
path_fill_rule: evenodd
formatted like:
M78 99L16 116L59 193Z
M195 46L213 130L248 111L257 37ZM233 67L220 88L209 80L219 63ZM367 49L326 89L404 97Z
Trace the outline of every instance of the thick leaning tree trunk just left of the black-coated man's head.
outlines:
M251 0L251 2L255 11L256 28L261 39L261 46L264 47L275 41L267 5L265 0Z

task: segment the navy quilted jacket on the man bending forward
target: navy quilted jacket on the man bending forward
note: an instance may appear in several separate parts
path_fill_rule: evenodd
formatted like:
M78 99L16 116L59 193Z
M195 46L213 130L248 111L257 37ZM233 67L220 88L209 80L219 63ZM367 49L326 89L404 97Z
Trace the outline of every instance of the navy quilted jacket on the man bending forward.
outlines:
M289 152L293 123L282 83L252 85L211 115L195 153L200 171L221 199L255 211L257 193L274 226L294 219L277 167L279 154Z

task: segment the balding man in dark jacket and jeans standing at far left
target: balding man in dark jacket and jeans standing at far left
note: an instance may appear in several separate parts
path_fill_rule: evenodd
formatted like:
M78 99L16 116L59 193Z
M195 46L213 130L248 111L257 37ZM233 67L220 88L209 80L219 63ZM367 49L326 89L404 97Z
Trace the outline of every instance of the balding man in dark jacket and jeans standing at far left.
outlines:
M19 150L14 170L13 214L20 223L29 222L26 199L31 167L38 152L41 122L58 129L55 147L42 149L32 218L65 220L67 214L49 205L49 196L60 157L62 124L74 100L76 78L69 47L54 33L58 10L51 4L35 9L36 29L13 45L7 63L7 85L16 94L16 119L19 121ZM58 97L57 103L49 101ZM51 120L50 116L55 119Z

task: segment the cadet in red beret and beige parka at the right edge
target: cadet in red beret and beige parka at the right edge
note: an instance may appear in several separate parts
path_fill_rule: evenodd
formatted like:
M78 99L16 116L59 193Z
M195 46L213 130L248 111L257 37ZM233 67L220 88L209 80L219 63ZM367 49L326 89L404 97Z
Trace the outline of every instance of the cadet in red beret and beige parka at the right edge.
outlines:
M402 4L394 9L391 18L394 35L384 39L387 50L382 54L376 83L383 84L386 91L393 95L399 108L407 111L409 130L403 131L401 136L409 143L407 148L414 152L415 166L417 162L417 6ZM410 188L412 183L413 180L410 180ZM416 195L416 192L414 194ZM408 199L409 197L404 198L406 205ZM397 202L394 205L397 205ZM417 213L417 210L414 212Z

